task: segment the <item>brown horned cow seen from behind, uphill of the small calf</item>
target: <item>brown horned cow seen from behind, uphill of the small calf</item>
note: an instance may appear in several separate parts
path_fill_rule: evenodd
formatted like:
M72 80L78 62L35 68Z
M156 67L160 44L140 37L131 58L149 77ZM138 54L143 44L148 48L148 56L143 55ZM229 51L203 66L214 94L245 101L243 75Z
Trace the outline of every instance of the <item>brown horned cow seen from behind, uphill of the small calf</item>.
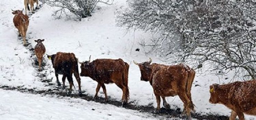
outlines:
M24 15L22 11L16 10L16 11L13 11L12 14L15 15L13 18L14 26L18 29L19 35L23 37L23 44L25 46L29 20L28 20L28 16Z

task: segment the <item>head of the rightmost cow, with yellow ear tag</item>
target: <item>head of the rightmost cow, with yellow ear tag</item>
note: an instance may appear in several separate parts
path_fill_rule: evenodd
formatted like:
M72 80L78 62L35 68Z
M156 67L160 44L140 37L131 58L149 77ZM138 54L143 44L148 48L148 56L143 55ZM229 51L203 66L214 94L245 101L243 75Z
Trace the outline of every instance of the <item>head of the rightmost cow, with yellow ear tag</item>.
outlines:
M209 102L212 103L212 104L216 104L219 102L219 93L218 93L218 89L219 89L219 85L218 84L212 84L210 86L210 94L211 94L211 97L209 99Z

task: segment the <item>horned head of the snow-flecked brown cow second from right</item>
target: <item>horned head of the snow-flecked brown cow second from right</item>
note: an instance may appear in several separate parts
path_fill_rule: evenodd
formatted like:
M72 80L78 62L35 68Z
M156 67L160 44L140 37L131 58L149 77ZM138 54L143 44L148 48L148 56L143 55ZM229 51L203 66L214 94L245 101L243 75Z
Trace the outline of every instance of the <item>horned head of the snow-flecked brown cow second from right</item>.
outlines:
M142 62L142 63L137 63L133 60L133 63L138 65L140 68L140 73L141 73L140 79L142 81L149 81L149 79L150 79L150 74L151 74L150 63L151 62L152 62L151 58L150 58L150 61L146 61L146 62Z

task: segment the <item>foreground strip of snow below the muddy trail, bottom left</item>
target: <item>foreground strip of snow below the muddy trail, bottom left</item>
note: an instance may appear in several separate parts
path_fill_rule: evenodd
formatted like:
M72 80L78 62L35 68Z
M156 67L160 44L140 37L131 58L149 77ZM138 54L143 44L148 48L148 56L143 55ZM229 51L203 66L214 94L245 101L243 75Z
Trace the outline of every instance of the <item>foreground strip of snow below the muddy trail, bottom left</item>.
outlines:
M154 120L151 115L81 99L0 91L1 120Z

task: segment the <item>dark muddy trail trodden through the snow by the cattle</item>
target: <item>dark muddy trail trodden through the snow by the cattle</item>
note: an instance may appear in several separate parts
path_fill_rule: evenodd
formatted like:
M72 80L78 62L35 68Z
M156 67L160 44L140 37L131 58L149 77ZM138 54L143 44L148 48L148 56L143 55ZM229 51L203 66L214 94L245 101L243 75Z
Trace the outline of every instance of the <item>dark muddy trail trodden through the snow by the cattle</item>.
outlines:
M39 5L39 8L42 7L42 4ZM38 11L38 10L37 10ZM35 12L37 12L35 11ZM32 18L32 14L28 15L30 17L30 19ZM30 26L29 26L30 27ZM32 39L32 32L28 33L27 38L28 39ZM23 44L22 38L18 37L18 39L21 41L20 43ZM37 39L37 38L35 38ZM38 70L38 59L35 56L34 53L34 47L31 45L31 43L29 43L29 41L27 40L27 45L25 46L26 49L29 50L30 52L30 57L32 59L32 65L33 67ZM23 86L19 86L19 87L10 87L10 86L0 86L1 89L5 89L5 90L14 90L14 91L19 91L22 93L30 93L30 94L40 94L40 95L51 95L51 96L57 96L57 97L70 97L70 98L80 98L80 99L84 99L87 101L95 101L95 102L99 102L102 104L111 104L111 105L115 105L117 107L121 107L122 106L122 102L115 100L115 99L111 99L111 96L109 96L109 101L104 102L104 98L99 97L98 99L94 99L93 96L90 96L88 94L86 94L85 91L82 91L82 95L78 96L77 93L78 92L74 92L73 94L71 94L70 96L67 96L67 91L63 90L57 86L57 84L53 84L52 80L54 78L48 78L47 76L50 73L53 73L53 71L51 71L50 73L47 72L47 69L52 69L51 68L51 63L49 63L49 61L46 58L43 58L43 62L42 62L42 68L43 70L41 72L37 72L36 73L36 78L37 80L45 83L45 86L49 86L49 88L47 90L38 90L37 88L33 88L33 89L28 89L28 88L24 88ZM54 79L55 80L55 79ZM181 109L177 108L177 109L165 109L165 108L161 108L161 111L159 113L154 113L155 111L155 107L153 105L147 105L147 106L138 106L138 105L134 105L132 104L132 102L129 102L127 105L123 106L124 108L127 109L132 109L132 110L136 110L142 113L149 113L155 117L157 116L162 116L166 119L168 118L174 118L174 119L186 119L185 116L181 115ZM213 114L208 114L208 115L202 115L200 113L192 113L191 117L194 119L198 119L198 120L228 120L229 117L228 116L221 116L221 115L213 115Z

